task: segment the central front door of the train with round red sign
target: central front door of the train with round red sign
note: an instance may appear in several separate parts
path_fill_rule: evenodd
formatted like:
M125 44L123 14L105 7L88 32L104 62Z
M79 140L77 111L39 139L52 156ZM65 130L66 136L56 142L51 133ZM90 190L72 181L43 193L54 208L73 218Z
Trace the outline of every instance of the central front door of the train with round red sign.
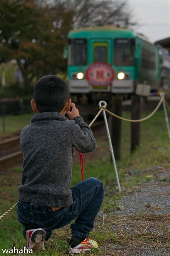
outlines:
M86 79L89 82L91 98L95 102L103 96L104 92L110 91L113 73L109 68L110 65L106 64L112 64L113 47L111 46L112 40L109 38L93 38L90 41L90 65L86 70ZM101 65L95 65L97 63Z

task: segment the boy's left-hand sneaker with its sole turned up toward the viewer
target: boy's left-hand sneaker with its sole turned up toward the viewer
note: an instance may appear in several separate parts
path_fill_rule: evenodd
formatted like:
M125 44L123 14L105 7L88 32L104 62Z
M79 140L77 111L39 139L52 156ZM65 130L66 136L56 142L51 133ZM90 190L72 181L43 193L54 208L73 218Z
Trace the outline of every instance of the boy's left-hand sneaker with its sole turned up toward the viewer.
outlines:
M42 228L26 230L26 248L34 251L44 251L46 231Z

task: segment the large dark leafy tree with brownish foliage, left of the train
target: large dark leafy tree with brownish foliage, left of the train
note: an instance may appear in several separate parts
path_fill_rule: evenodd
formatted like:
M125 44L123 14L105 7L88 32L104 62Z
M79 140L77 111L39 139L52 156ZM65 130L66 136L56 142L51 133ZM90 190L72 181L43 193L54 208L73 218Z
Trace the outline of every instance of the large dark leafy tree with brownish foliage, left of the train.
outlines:
M71 29L71 15L72 12L60 10L57 16L56 10L54 13L34 0L0 2L0 62L16 59L25 93L34 77L65 70L62 51Z

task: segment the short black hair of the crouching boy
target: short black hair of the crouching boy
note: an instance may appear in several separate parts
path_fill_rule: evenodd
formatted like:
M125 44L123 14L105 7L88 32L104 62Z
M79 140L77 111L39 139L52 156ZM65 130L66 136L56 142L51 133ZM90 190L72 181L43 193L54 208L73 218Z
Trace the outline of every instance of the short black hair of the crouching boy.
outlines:
M69 86L60 77L41 77L34 86L34 100L39 112L61 112L70 97Z

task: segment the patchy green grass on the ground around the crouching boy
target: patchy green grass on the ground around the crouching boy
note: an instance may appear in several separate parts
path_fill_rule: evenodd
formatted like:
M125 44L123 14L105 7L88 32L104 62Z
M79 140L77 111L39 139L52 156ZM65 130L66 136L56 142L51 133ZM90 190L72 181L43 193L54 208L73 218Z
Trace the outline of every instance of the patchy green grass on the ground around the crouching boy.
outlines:
M147 116L147 114L148 113L142 114L142 117ZM124 113L123 116L126 118L130 117L129 113ZM7 126L9 127L9 132L11 132L11 126L13 126L13 131L16 131L16 129L22 129L25 125L30 123L31 117L32 114L11 116L11 118L8 120L9 123ZM104 212L112 212L112 209L117 206L119 198L126 194L127 189L130 188L133 190L133 186L136 185L139 181L151 179L150 177L147 177L147 173L143 172L144 169L148 167L155 167L157 165L164 168L169 168L170 166L169 138L167 135L167 128L163 111L157 111L154 117L141 123L141 147L137 148L132 155L129 155L129 138L130 123L123 121L121 142L122 158L121 160L116 161L122 194L119 194L116 189L117 184L115 180L113 165L110 162L109 143L107 141L107 136L105 137L105 140L101 139L100 137L96 139L98 146L105 148L105 154L98 156L97 159L94 158L93 162L85 163L85 179L94 176L104 183L105 198L101 206L101 210ZM132 179L127 179L127 172L129 169L140 169L142 172L138 171ZM22 167L14 166L11 171L1 175L0 209L2 214L18 201L17 187L21 183L21 174ZM71 186L74 186L80 181L80 164L75 163L72 169ZM16 218L16 208L2 220L0 220L0 253L1 248L12 248L14 245L13 242L17 242L20 238L21 240L16 243L16 247L22 248L25 246L25 241L22 235L22 225ZM112 220L115 222L124 221L115 218ZM128 244L134 243L137 246L138 241L135 242L134 239L128 237L128 234L124 234L124 237L121 237L121 235L118 235L118 233L114 232L113 224L111 224L111 226L109 223L105 223L103 226L102 225L103 220L101 220L101 225L99 224L99 226L95 227L95 229L90 233L90 237L92 239L95 238L101 247L101 249L93 251L92 255L105 255L104 253L107 245L109 246L109 244L115 243L123 244L123 241L127 241ZM164 224L161 225L162 229L165 229L165 226L163 226ZM33 253L33 255L69 255L69 247L65 242L67 235L70 235L70 224L63 229L54 231L52 239L46 244L46 253ZM13 236L14 241L12 240Z

